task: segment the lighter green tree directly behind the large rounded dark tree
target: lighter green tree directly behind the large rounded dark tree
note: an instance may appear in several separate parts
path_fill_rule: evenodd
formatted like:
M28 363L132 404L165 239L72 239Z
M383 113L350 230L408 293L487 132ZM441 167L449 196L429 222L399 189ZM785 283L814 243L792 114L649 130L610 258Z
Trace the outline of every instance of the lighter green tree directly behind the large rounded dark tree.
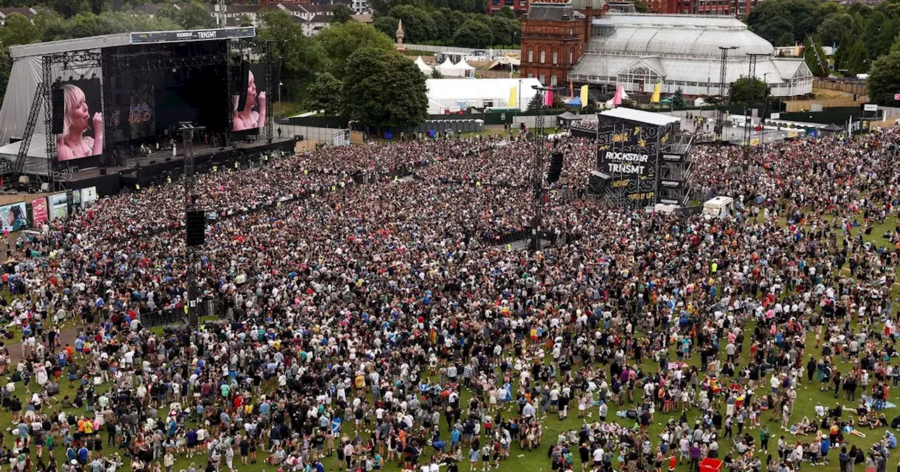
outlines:
M331 24L320 31L316 40L329 58L329 71L338 80L343 80L347 70L347 58L350 58L356 49L363 47L394 49L391 38L375 30L372 25L361 22Z

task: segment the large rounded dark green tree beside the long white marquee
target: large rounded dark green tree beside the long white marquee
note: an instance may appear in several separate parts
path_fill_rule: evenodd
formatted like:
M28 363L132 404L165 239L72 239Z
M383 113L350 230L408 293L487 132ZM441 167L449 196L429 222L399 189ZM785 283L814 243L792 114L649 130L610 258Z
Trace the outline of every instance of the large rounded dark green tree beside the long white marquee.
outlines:
M428 112L425 75L396 51L363 48L347 59L343 115L382 129L410 129Z

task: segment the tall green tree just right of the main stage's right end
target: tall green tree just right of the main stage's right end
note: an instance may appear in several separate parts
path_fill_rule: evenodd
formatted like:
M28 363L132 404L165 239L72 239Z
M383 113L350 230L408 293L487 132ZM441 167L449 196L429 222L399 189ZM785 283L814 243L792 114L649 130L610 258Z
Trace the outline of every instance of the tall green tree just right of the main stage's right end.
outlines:
M259 38L273 41L275 58L272 60L282 65L284 94L292 99L301 98L306 86L326 67L325 50L319 42L303 35L302 27L289 13L268 10L263 13L263 23Z

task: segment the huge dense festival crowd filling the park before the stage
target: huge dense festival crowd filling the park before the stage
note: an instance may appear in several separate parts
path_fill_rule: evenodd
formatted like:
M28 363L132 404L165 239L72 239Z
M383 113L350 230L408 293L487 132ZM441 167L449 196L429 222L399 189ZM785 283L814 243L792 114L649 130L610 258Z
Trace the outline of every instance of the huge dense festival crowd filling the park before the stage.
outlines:
M748 159L698 147L694 188L738 201L721 219L551 193L546 221L570 237L540 252L496 244L528 225L534 143L326 147L218 170L197 184L220 218L196 272L228 321L163 334L140 320L184 309L184 191L99 200L20 236L4 276L25 336L23 360L0 354L14 419L0 456L20 472L455 472L519 454L560 471L884 472L900 236L863 236L896 218L898 139ZM583 185L590 142L545 146L567 155L563 184ZM414 176L354 183L401 167ZM307 198L272 204L292 194ZM801 417L800 388L841 401Z

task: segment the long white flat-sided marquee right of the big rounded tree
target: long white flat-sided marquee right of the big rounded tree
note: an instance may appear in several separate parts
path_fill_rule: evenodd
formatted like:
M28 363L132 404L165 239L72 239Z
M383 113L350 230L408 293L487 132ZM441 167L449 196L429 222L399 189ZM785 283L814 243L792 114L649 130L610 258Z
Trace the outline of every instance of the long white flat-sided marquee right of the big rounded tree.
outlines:
M445 111L459 111L466 107L509 108L509 95L515 87L519 110L527 110L528 102L535 96L534 85L540 85L536 78L471 79L444 78L428 79L428 113L443 114Z

